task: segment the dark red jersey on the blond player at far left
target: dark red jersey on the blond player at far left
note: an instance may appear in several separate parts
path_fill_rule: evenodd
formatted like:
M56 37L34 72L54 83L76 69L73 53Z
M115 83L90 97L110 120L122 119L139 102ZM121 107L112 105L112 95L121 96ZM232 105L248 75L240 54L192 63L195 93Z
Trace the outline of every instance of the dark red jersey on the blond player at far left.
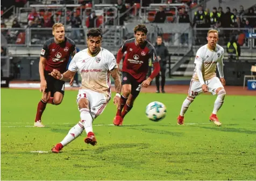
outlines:
M45 70L52 72L53 69L61 73L66 71L68 59L75 51L75 42L65 37L62 43L56 43L54 37L45 42L41 50L41 57L47 59Z

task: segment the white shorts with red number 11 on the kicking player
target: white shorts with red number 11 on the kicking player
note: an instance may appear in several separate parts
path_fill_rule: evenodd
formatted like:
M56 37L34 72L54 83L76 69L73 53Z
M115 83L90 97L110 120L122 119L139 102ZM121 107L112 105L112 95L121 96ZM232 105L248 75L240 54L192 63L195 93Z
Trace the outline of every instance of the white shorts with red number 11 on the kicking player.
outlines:
M93 119L102 114L106 104L108 104L110 100L103 93L98 93L89 89L80 89L76 97L77 105L79 104L80 99L84 98L89 101L90 114Z

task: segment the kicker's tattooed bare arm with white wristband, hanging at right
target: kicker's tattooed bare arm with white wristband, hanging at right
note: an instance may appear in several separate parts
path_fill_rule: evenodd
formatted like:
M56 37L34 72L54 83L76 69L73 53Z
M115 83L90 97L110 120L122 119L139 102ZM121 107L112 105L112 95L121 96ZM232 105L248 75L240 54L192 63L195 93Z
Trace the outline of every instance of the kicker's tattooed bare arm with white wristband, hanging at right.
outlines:
M114 97L114 104L117 106L117 108L120 108L120 93L121 93L121 88L122 88L122 84L121 84L121 78L120 78L120 74L118 71L118 68L115 68L113 70L110 71L112 78L115 80L115 89L116 89L116 96Z

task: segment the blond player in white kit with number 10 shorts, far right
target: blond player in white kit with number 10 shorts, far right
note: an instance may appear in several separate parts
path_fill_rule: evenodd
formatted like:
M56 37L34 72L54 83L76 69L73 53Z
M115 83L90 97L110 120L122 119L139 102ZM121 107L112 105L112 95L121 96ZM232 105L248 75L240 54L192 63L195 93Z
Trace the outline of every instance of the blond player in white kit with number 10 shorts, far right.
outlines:
M222 107L226 91L225 79L223 74L223 54L224 49L217 44L218 31L211 29L208 31L208 43L200 47L196 52L195 70L190 82L188 96L184 100L181 112L177 118L177 124L184 124L184 114L188 110L189 105L194 101L195 97L202 92L210 92L212 95L217 94L214 103L214 110L210 116L210 121L221 126L221 122L217 118L217 111ZM216 77L216 65L219 71L219 77Z

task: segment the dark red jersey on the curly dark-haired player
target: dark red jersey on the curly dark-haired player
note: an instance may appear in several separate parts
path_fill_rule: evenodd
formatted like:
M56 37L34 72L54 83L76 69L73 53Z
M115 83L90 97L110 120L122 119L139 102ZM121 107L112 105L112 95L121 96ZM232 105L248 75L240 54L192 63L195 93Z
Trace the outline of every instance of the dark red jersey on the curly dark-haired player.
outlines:
M143 45L136 44L135 38L126 40L119 51L123 54L127 51L122 70L131 74L138 82L146 79L149 59L151 58L152 63L158 62L157 52L147 40Z

